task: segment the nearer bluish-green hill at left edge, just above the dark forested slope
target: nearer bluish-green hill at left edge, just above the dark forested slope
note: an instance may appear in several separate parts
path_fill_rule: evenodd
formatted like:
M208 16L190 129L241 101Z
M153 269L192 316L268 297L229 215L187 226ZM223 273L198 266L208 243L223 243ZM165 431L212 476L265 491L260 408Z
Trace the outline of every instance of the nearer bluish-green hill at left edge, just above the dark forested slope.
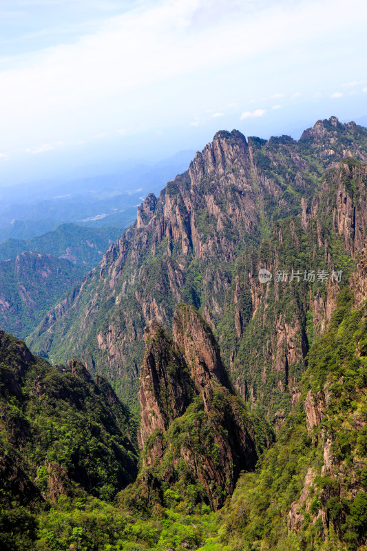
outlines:
M68 260L30 251L0 262L0 327L26 337L83 277Z

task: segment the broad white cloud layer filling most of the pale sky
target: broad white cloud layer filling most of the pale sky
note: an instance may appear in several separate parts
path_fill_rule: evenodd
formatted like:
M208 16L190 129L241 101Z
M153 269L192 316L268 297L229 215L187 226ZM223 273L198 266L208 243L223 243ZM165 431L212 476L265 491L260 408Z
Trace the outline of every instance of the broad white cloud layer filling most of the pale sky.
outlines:
M251 123L312 96L344 101L343 81L334 81L341 65L347 87L367 90L357 74L364 0L350 0L348 9L344 0L143 0L118 15L118 2L110 3L113 17L94 21L94 32L83 34L81 25L64 43L37 49L34 42L33 51L0 57L1 150L39 154L58 141L194 130L230 113Z

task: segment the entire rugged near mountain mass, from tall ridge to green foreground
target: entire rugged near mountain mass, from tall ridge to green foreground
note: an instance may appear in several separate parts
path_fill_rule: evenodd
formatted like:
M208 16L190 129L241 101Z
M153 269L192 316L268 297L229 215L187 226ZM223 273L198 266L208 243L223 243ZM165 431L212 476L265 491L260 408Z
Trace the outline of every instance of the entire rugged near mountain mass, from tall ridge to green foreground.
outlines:
M366 153L219 132L33 333L61 364L0 333L2 548L364 551Z

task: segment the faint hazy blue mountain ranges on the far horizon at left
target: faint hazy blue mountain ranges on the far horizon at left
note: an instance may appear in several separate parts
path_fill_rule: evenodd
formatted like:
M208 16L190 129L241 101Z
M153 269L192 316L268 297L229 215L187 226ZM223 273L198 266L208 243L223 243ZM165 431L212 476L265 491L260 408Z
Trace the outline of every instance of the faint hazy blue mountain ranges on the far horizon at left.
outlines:
M189 158L190 152L180 152L155 165L123 163L116 174L96 174L101 167L89 167L94 176L2 187L0 242L39 236L63 222L125 229L136 220L136 206L149 191L159 191L185 169Z

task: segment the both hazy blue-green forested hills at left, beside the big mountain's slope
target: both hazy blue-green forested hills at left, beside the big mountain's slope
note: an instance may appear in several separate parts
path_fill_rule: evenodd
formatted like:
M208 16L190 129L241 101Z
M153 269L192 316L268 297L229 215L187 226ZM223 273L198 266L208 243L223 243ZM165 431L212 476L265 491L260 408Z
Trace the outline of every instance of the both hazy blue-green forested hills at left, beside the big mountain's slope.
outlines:
M63 224L28 240L0 244L0 326L25 338L43 315L100 262L120 236L115 227Z

